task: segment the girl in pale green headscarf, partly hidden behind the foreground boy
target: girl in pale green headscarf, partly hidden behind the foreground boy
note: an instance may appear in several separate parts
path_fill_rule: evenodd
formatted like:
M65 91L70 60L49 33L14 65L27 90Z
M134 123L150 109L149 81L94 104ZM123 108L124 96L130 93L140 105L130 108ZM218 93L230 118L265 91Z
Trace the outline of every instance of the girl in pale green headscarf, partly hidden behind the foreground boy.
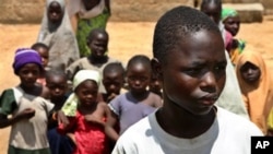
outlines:
M232 34L232 42L227 45L226 49L229 52L233 64L236 66L238 56L242 52L246 46L246 42L234 38L240 28L240 17L236 10L224 8L222 9L222 21L225 29Z

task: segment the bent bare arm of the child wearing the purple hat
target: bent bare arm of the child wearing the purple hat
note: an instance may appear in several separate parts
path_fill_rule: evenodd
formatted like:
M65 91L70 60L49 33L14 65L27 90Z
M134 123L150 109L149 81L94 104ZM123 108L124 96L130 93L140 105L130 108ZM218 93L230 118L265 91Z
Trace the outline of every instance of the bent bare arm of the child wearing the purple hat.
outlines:
M15 115L14 117L8 118L7 115L0 114L0 128L5 128L12 126L13 123L22 120L22 119L29 119L35 116L35 110L32 108L26 108L20 114Z

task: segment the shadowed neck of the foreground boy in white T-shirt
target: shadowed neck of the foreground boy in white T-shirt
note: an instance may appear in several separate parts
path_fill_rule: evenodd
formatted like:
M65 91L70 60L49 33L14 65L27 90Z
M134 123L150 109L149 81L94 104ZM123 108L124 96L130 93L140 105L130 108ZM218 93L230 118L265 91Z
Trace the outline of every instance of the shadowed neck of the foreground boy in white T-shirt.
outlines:
M211 128L216 114L216 107L213 107L206 115L197 116L174 103L164 103L164 106L156 111L156 119L163 130L169 134L177 138L192 139L203 134Z

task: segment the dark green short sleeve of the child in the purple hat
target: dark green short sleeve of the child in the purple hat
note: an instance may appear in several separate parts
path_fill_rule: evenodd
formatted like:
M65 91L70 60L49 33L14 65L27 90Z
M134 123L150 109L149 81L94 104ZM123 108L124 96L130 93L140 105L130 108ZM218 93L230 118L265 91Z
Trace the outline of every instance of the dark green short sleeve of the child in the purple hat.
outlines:
M0 97L0 114L10 115L17 108L14 92L12 88L3 91Z

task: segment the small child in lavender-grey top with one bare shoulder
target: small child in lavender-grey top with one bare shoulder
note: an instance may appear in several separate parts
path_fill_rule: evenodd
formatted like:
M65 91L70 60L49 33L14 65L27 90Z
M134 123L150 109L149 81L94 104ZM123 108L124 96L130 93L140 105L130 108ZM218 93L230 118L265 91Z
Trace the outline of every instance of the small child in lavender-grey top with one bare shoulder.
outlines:
M129 92L120 94L109 103L112 117L107 122L106 133L111 140L118 139L114 126L119 120L122 134L130 126L162 106L158 95L147 91L151 79L150 59L143 55L132 57L127 66Z

